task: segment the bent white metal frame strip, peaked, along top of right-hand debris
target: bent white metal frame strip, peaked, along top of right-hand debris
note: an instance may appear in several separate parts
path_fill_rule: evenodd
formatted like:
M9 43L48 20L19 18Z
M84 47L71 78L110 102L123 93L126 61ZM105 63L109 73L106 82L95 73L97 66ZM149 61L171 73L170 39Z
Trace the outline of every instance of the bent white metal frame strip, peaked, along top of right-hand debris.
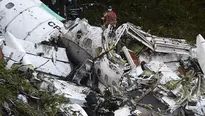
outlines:
M143 32L139 27L131 23L125 23L118 27L113 38L114 45L117 45L122 35L130 35L133 39L138 40L151 50L161 53L190 54L191 46L183 39L172 39L156 37L149 33Z

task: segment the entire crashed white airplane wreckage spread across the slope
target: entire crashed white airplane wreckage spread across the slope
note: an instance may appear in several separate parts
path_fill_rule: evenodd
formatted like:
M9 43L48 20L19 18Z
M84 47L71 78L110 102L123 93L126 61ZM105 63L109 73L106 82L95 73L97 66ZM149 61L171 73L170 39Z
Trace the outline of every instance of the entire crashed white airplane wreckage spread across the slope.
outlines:
M83 116L81 107L91 109L88 115L204 115L201 35L194 47L131 23L103 30L86 19L62 20L39 0L1 0L7 68L20 64L19 70L32 70L39 89L55 88Z

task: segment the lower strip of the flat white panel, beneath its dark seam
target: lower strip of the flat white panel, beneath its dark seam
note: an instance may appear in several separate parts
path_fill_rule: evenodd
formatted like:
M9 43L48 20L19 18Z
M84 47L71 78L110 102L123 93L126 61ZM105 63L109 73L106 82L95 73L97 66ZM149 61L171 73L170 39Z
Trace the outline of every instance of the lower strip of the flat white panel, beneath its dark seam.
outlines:
M13 63L20 63L23 57L26 55L26 53L20 52L7 46L3 47L3 53L6 58L14 61ZM37 71L61 77L66 77L67 75L69 75L71 71L70 64L68 63L59 61L56 61L54 63L52 59L43 58L40 56L30 54L27 54L26 56L29 59L29 64L34 66L34 68L36 68Z

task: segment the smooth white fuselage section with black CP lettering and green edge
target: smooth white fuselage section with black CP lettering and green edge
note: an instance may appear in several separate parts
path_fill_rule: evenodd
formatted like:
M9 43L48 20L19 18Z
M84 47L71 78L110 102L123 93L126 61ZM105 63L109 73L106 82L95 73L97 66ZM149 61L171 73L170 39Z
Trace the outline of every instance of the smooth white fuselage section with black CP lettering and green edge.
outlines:
M7 9L5 6L8 3L13 3L14 6ZM40 0L0 1L0 31L9 31L18 39L35 43L48 41L50 36L65 32L63 23L46 11L42 4ZM49 25L49 22L52 24Z

